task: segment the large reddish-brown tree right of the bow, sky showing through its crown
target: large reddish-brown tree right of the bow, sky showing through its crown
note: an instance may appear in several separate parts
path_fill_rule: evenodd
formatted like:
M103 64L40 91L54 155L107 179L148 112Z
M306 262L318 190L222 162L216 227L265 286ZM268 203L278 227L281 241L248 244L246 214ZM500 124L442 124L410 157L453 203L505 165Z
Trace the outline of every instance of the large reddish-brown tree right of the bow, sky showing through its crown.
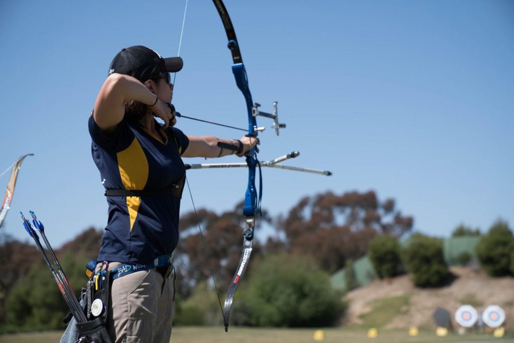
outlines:
M285 235L285 249L308 254L329 273L343 268L347 259L366 254L377 233L401 237L412 229L413 218L395 210L394 200L380 202L373 191L332 192L304 197L277 228Z

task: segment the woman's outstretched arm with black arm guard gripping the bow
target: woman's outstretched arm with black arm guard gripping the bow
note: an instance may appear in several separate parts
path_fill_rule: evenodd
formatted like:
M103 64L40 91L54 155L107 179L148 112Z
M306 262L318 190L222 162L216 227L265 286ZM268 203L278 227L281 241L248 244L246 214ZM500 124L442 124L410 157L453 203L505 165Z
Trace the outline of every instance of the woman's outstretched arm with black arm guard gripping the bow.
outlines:
M217 138L214 136L188 136L189 145L182 154L182 157L223 157L227 155L234 155L236 151L218 147L218 142L227 143L236 148L239 147L237 139ZM240 139L243 147L242 152L237 156L244 156L244 154L253 148L255 144L259 144L259 139L254 137L242 137Z

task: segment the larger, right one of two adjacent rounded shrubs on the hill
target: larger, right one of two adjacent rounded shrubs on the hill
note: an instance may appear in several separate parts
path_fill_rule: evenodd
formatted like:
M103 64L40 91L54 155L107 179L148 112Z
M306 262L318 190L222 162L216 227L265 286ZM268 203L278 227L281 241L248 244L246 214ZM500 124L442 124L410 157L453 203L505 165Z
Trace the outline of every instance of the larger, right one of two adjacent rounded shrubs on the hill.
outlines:
M443 242L439 239L415 234L402 256L416 286L442 286L451 276L443 258Z

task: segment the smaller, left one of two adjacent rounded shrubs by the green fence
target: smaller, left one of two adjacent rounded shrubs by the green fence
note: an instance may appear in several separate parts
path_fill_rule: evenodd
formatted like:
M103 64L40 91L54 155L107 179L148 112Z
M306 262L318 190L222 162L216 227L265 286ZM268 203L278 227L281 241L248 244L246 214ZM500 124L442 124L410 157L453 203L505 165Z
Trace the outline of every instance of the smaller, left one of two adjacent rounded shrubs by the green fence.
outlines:
M368 256L380 279L391 278L399 274L400 244L392 236L375 236L368 247Z

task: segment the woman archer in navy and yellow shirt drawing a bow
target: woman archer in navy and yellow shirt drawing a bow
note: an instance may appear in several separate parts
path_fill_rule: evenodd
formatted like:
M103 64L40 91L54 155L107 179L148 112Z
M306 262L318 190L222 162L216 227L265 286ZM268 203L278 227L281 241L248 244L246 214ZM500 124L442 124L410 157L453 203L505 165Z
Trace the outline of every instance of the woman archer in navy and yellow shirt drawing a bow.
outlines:
M161 58L144 46L122 49L89 118L91 153L108 203L97 272L113 275L106 327L114 342L170 341L175 297L170 257L178 242L186 175L181 158L241 157L258 143L251 137L196 137L174 128L169 73L181 68L179 57Z

